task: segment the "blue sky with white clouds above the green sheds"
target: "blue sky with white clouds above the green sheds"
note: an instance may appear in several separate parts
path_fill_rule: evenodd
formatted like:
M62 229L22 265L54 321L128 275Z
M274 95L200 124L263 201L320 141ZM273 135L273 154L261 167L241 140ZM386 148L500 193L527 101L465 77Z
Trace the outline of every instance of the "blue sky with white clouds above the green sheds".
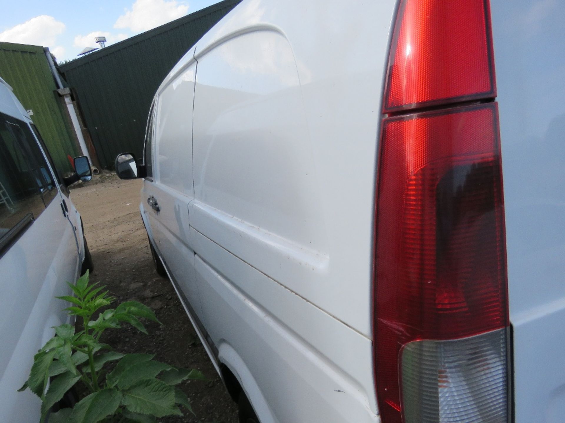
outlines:
M24 0L3 2L0 41L49 47L58 61L76 58L94 37L111 45L219 0Z

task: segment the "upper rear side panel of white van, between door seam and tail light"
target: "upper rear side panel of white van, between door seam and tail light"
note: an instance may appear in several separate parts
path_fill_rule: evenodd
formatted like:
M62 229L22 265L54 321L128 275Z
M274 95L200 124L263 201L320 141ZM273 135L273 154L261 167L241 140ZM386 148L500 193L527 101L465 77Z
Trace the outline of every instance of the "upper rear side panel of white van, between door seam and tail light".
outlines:
M249 228L218 231L234 240L233 254L367 337L383 58L394 6L244 1L195 55L195 201L231 215L228 227Z

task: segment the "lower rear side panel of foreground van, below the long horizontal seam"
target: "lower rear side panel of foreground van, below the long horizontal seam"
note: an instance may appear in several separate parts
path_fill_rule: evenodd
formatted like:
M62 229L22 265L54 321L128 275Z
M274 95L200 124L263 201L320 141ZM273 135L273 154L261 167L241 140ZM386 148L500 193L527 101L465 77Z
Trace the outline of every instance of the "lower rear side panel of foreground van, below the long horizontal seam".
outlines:
M260 386L260 396L249 392L259 418L264 396L275 421L375 421L371 341L199 232L191 235L206 330L220 351L225 343L238 352ZM237 363L224 363L247 389Z

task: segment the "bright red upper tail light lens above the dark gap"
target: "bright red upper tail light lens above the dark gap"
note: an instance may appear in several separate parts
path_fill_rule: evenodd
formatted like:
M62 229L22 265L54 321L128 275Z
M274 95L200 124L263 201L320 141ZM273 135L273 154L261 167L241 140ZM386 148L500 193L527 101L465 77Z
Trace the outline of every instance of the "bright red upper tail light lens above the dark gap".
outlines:
M494 98L488 0L401 0L384 112Z

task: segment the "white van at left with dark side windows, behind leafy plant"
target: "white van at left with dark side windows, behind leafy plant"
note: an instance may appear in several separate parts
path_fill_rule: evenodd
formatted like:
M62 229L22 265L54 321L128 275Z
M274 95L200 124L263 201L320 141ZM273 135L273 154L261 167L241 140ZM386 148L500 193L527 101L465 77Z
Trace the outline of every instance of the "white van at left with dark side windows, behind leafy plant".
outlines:
M55 296L71 293L92 259L67 186L92 175L86 157L62 178L28 113L0 78L0 422L39 421L41 400L17 390L33 356L66 323Z

